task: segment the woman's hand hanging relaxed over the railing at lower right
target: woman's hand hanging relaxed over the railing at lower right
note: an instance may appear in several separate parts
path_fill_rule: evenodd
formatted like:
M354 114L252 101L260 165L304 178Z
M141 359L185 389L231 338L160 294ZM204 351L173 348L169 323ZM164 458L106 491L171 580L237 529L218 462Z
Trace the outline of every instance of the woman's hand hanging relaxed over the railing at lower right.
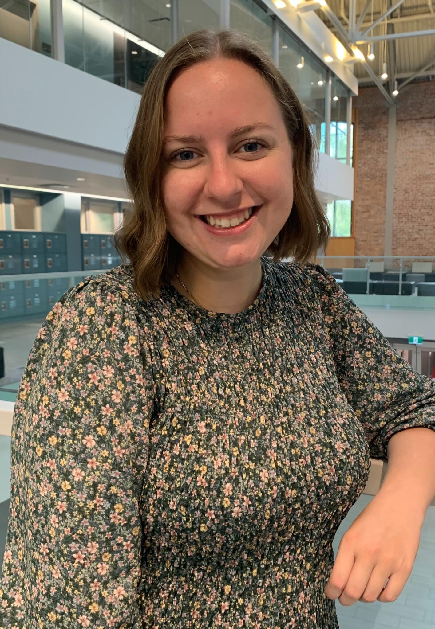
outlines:
M344 606L395 601L412 571L423 521L412 503L376 494L341 539L326 596Z

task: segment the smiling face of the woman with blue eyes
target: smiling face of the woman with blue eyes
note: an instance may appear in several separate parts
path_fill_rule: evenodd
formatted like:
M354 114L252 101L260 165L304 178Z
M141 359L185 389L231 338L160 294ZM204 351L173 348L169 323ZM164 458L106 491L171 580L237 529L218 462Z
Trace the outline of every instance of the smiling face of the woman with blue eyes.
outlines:
M169 233L215 269L255 262L293 205L291 145L269 87L240 61L200 62L172 83L165 115L162 193ZM243 130L247 125L252 128ZM257 206L239 226L203 222L207 214L229 220Z

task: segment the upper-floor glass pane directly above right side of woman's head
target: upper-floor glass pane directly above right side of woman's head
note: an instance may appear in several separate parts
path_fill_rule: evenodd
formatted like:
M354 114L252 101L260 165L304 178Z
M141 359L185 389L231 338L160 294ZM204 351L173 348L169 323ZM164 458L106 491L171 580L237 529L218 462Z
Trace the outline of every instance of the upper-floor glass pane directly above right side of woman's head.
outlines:
M230 27L246 33L273 56L273 19L254 0L230 0Z

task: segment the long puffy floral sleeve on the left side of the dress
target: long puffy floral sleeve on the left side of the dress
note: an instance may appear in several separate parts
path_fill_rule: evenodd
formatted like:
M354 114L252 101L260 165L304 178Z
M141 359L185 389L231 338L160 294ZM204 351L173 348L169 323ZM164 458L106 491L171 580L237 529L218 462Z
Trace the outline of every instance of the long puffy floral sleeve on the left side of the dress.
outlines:
M11 438L3 629L139 629L138 498L152 363L128 294L99 276L38 331Z

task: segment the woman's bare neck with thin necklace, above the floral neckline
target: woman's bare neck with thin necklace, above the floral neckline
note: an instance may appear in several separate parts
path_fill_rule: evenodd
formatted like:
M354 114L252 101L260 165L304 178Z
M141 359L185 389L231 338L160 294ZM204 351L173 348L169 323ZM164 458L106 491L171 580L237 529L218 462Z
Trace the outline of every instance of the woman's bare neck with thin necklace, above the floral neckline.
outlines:
M239 313L257 298L262 285L261 261L220 270L203 267L184 260L178 267L179 279L171 280L172 286L192 303L199 302L203 308L217 313Z

